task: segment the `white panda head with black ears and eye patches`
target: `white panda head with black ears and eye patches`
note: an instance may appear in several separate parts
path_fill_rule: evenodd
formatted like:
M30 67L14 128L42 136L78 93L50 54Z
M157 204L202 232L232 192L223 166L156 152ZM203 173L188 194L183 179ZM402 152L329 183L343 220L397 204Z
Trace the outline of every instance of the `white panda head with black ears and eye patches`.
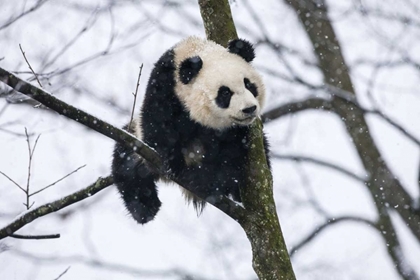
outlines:
M227 49L198 37L174 47L175 93L191 119L213 129L250 125L259 116L265 89L250 62L252 45L233 40Z

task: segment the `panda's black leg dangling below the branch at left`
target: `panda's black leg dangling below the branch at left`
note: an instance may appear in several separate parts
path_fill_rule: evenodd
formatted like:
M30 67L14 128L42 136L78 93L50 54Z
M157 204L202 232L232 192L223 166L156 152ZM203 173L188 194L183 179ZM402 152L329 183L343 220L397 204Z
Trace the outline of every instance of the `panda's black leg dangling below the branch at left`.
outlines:
M112 175L132 217L140 224L152 220L161 206L155 184L158 176L146 166L144 160L132 149L117 143Z

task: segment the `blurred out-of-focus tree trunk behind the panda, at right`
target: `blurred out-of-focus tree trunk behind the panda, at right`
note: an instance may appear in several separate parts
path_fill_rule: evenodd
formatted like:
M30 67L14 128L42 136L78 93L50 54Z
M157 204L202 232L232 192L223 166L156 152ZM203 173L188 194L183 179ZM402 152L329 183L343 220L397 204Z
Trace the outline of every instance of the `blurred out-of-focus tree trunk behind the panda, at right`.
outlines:
M328 15L325 0L285 0L296 12L302 23L318 58L319 68L324 75L324 83L343 89L350 95L356 95L350 73L341 52L340 42L335 35ZM308 16L309 15L309 16ZM392 258L398 273L403 279L419 279L415 271L406 263L389 211L396 211L413 235L420 241L420 215L413 213L409 207L412 199L396 176L382 158L366 122L364 111L355 104L342 98L334 97L332 110L344 122L354 147L370 175L366 187L377 208L379 229L389 256Z

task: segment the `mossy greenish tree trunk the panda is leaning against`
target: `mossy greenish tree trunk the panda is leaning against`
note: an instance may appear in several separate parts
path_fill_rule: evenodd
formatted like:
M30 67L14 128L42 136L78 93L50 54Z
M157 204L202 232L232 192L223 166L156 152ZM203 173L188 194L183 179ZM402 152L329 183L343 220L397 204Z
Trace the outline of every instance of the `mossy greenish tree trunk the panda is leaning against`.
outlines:
M227 46L237 38L227 0L199 0L207 39ZM245 215L238 222L251 243L253 268L259 279L296 279L281 232L267 165L262 122L251 126L247 185L241 188Z

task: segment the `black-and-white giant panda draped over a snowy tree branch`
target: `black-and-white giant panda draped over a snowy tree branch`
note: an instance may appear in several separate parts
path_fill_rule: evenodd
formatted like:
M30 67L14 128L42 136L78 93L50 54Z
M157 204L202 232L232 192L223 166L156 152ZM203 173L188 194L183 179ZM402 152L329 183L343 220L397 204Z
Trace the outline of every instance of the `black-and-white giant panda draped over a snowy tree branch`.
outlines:
M232 40L224 48L198 37L184 39L155 63L140 115L125 127L159 153L171 176L187 180L207 201L223 195L241 202L249 125L265 97L262 78L251 65L254 58L246 40ZM267 155L265 136L264 144ZM152 220L161 206L156 188L161 176L119 143L112 174L132 217L140 224ZM205 202L183 192L201 212Z

